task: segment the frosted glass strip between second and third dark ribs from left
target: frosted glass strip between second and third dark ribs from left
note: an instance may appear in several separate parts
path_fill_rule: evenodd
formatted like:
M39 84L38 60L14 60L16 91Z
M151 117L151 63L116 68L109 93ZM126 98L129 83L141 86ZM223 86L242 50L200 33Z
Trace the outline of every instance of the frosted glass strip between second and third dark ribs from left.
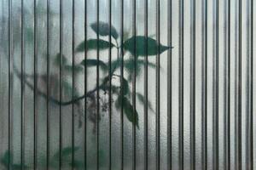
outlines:
M26 75L34 74L34 41L33 41L33 2L31 0L24 1L24 15L23 15L23 35L24 35L24 72ZM28 77L27 77L28 78ZM29 77L29 81L33 84L33 77ZM28 167L33 167L33 115L34 115L34 95L29 87L24 87L24 164Z

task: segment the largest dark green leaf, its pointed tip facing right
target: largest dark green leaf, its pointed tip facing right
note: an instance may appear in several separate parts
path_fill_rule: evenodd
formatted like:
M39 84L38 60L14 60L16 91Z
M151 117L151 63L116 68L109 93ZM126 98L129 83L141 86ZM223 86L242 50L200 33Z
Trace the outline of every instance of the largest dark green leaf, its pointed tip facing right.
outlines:
M146 42L147 42L146 37L143 37L143 36L131 37L124 42L124 48L125 50L129 51L133 55L145 56L147 55ZM134 49L135 43L136 43L136 51ZM160 48L159 51L158 51L158 48ZM161 54L169 48L170 47L158 44L156 40L154 40L151 37L148 37L148 55Z

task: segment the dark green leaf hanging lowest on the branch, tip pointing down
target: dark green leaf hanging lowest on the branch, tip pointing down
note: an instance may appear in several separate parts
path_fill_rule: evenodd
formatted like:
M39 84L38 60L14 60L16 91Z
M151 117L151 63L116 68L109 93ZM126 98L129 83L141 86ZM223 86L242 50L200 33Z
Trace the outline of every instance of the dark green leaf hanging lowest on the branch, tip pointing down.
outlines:
M125 116L130 122L133 122L136 124L136 126L139 128L138 125L138 113L137 111L133 109L133 106L131 105L131 102L126 97L119 96L118 99L115 101L115 106L118 110L120 110L121 105L123 103L123 109L125 112Z

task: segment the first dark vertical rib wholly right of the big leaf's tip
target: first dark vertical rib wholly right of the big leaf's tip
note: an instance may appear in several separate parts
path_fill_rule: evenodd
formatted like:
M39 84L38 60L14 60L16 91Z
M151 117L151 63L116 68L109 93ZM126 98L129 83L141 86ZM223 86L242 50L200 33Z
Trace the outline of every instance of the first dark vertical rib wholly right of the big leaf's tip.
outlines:
M178 108L179 108L179 169L183 169L183 0L179 1L179 78L178 78Z

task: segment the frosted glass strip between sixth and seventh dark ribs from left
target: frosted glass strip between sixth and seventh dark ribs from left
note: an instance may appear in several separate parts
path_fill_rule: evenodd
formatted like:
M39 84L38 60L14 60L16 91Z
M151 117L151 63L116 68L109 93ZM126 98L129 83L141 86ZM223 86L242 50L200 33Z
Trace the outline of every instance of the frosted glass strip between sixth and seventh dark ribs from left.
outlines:
M76 49L81 42L84 42L84 1L73 1L73 48ZM74 51L74 67L78 68L77 71L73 71L73 94L74 98L82 96L84 94L84 71L85 66L80 65L84 60L84 52L78 53ZM74 153L74 162L77 162L78 167L83 169L84 167L84 125L85 125L85 100L81 99L78 105L74 105L74 147L77 150Z

